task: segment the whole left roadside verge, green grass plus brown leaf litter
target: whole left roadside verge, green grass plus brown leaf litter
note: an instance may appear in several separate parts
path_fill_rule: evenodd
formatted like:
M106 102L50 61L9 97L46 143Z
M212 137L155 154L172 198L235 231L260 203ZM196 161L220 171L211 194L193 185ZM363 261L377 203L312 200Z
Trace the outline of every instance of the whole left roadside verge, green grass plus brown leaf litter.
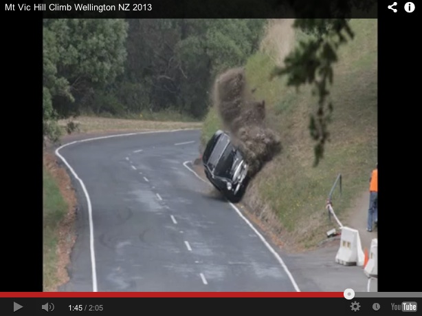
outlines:
M76 194L53 154L43 154L43 291L57 291L69 280L66 267L76 240Z

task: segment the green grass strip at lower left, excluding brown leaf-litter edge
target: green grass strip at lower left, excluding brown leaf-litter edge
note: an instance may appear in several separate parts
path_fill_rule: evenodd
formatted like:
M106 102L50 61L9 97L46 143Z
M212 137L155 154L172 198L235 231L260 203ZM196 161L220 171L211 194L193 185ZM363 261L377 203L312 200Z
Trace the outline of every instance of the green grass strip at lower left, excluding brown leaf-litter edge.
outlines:
M58 225L65 217L67 203L52 175L43 168L43 288L57 283Z

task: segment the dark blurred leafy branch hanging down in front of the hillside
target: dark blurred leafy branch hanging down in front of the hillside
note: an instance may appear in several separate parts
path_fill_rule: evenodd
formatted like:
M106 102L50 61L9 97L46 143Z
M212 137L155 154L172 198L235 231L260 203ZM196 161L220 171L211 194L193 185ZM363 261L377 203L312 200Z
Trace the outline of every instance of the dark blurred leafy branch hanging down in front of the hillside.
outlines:
M328 124L333 112L333 104L328 100L329 86L333 84L333 64L337 62L337 50L353 39L354 33L348 19L296 19L294 28L312 34L300 41L285 59L283 67L276 67L274 76L287 76L287 85L299 88L313 85L313 93L318 95L318 107L309 120L309 131L316 144L315 163L324 156L324 144L329 140Z

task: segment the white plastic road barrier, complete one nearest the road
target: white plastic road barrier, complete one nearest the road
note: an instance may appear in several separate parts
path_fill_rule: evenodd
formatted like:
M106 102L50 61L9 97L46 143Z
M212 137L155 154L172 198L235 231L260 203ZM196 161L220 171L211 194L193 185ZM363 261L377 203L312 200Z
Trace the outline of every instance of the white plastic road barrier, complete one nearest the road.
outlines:
M340 248L335 256L335 262L344 266L363 266L365 254L362 250L359 231L349 227L342 227Z

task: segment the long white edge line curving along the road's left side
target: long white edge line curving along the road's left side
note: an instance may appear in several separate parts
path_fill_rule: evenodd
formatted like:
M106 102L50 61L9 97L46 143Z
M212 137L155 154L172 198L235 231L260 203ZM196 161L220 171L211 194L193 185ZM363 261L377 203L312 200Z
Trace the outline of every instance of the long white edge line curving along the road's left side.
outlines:
M60 154L60 149L63 149L69 145L74 145L78 143L85 143L91 140L99 140L105 138L113 138L113 137L122 137L122 136L133 136L133 135L140 135L140 134L153 134L153 133L171 133L174 131L192 131L198 129L171 129L171 130L160 130L160 131L137 131L135 133L128 133L128 134L115 134L115 135L108 135L108 136L100 136L100 137L93 137L93 138L86 138L82 140L74 140L73 142L67 143L65 145L61 145L55 151L56 156L63 161L66 165L67 169L72 173L72 175L79 181L80 187L82 187L82 191L85 194L85 198L87 199L87 207L88 207L88 215L89 215L89 249L91 252L91 271L92 271L92 291L98 292L98 282L97 282L97 268L96 268L96 255L95 255L95 247L93 242L93 220L92 220L92 204L89 198L89 194L87 188L85 187L84 182L79 178L78 174L74 171L74 169L69 165L69 162Z

